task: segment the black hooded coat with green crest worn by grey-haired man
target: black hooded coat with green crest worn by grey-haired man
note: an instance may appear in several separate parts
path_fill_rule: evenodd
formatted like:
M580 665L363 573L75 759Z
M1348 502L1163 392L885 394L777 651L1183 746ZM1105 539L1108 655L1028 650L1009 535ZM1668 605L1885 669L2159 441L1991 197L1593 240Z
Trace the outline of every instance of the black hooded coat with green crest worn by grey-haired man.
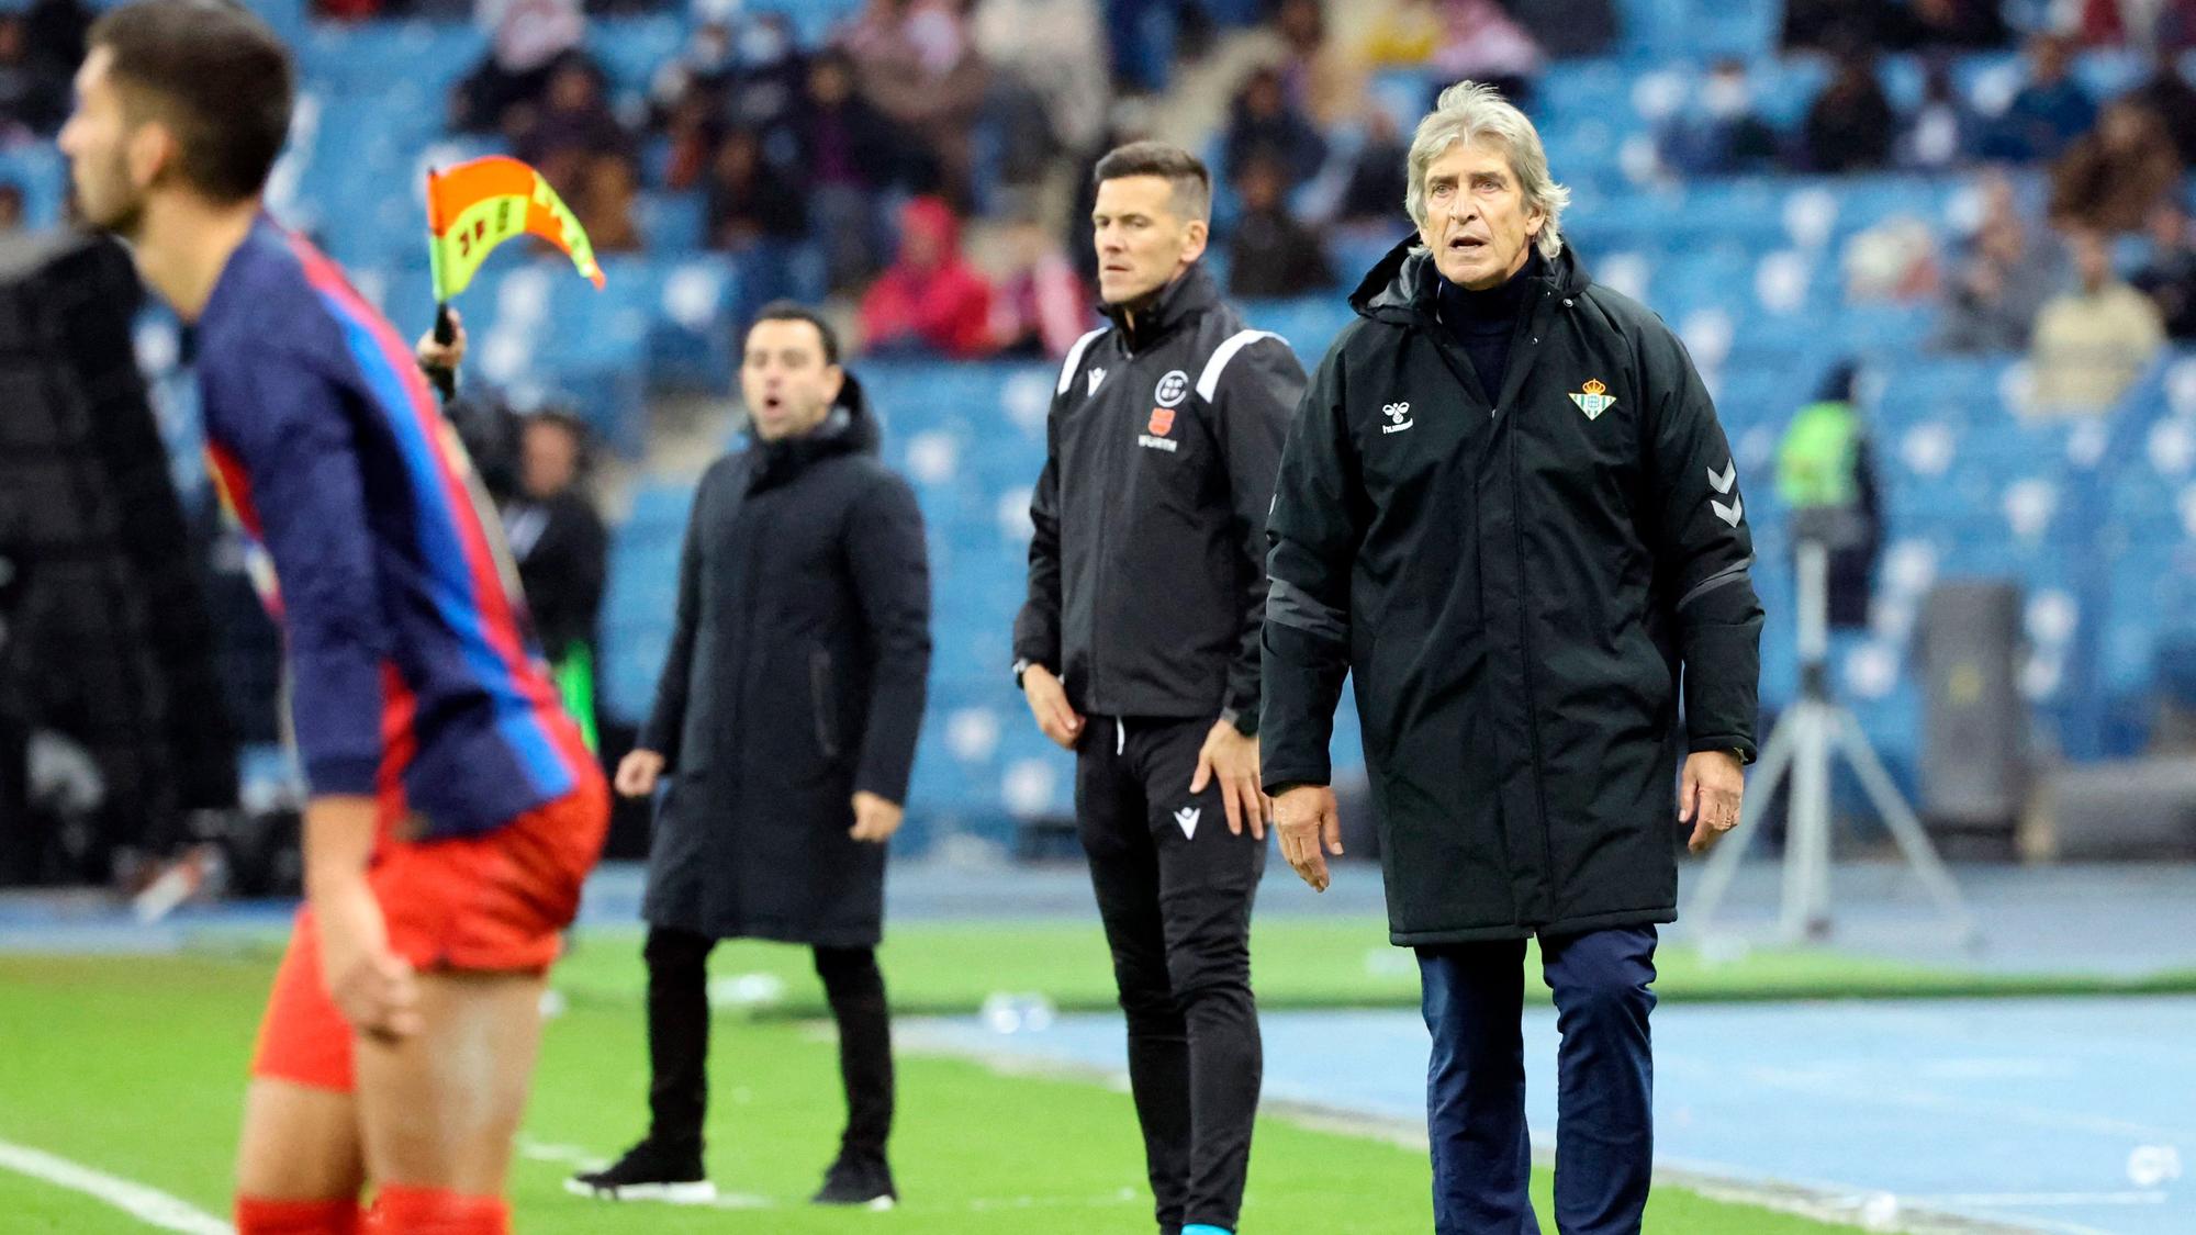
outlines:
M1351 297L1282 455L1265 785L1326 782L1351 670L1394 943L1673 921L1680 749L1755 747L1761 604L1715 407L1568 248L1487 398L1410 248Z

